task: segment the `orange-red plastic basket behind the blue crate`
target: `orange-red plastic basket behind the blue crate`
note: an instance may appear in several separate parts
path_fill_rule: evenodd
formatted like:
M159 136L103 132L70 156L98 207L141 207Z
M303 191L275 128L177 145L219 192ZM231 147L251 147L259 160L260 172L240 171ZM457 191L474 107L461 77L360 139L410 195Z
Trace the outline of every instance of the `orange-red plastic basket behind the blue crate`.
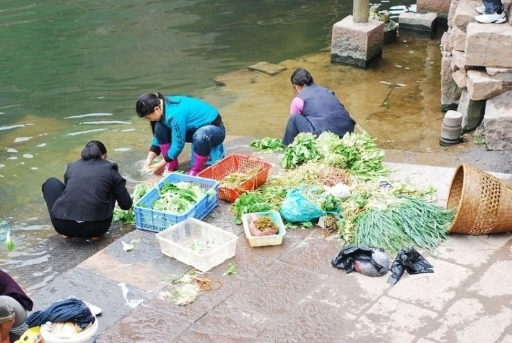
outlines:
M270 163L261 158L230 154L199 172L197 176L219 181L219 198L233 203L241 194L251 192L266 183L268 171L271 167ZM239 185L223 185L223 180L234 173L251 174L253 176Z

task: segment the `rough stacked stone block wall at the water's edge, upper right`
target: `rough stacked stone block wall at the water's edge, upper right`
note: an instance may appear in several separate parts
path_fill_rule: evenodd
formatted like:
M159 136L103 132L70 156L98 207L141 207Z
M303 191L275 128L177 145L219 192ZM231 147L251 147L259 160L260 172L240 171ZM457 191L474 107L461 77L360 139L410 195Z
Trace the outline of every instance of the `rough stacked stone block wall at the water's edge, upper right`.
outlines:
M504 24L479 24L481 1L454 0L441 38L441 109L462 113L462 129L484 129L487 148L512 149L512 16L503 0Z

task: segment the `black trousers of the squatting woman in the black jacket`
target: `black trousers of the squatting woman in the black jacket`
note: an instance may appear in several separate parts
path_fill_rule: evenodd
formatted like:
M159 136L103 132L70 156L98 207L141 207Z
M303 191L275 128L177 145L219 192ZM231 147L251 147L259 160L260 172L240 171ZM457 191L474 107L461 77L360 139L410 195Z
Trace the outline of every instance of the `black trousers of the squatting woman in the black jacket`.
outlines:
M73 220L54 218L51 214L53 204L64 192L64 183L58 178L48 178L43 183L43 197L48 207L48 214L53 228L60 234L67 237L91 238L100 237L107 232L112 223L112 217L102 221L82 221L81 223Z

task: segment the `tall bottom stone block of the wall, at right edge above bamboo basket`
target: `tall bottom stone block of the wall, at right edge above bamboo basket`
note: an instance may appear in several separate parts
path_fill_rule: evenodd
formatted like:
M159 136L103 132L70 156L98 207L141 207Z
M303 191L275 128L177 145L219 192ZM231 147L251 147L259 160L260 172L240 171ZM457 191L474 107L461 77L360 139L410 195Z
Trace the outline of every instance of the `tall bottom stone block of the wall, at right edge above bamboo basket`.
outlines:
M484 115L485 140L489 150L512 149L512 91L487 100Z

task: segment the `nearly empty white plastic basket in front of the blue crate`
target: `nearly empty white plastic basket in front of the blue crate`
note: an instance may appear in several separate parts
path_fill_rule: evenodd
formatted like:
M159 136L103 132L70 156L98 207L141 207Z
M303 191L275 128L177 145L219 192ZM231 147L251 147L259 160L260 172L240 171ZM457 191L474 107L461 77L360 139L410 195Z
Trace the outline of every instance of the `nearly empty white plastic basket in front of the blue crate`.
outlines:
M188 218L156 234L162 253L208 272L235 256L237 235L199 219Z

